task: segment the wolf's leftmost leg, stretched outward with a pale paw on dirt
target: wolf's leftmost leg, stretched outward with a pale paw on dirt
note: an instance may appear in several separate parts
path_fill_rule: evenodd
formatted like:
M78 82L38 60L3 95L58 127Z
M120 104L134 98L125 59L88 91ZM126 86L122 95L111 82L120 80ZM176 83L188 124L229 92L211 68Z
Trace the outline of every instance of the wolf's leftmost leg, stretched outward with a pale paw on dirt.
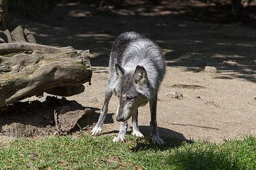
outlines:
M106 90L105 90L105 100L104 100L104 105L101 109L101 114L100 117L98 118L98 122L96 124L96 126L93 128L92 131L90 131L90 133L93 136L98 136L101 133L102 130L102 125L105 121L106 118L106 113L108 112L108 105L109 105L109 100L112 97L112 90L110 90L110 81L108 82L107 86L106 86Z

